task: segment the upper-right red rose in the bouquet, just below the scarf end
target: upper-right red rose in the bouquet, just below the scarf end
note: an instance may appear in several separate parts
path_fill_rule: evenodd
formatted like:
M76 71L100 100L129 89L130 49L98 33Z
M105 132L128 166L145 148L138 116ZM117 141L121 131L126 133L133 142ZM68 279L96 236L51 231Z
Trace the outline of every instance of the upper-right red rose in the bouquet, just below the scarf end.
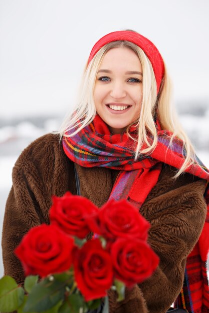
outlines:
M147 239L149 222L125 199L106 202L97 216L89 220L92 230L107 239L133 236Z

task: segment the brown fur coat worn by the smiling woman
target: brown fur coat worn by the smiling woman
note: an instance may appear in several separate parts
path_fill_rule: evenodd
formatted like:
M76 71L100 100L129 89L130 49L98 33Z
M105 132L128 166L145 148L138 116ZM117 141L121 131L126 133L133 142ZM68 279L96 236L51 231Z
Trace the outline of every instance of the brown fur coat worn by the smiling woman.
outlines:
M77 164L76 168L81 194L101 206L110 195L118 171ZM117 303L110 291L111 313L166 312L182 287L186 256L205 219L205 181L187 173L177 179L172 179L173 175L174 168L164 165L140 209L151 223L149 243L159 255L160 264L149 279L127 289L122 302ZM13 251L31 227L49 223L51 196L62 196L67 190L76 194L73 162L64 153L58 135L44 135L22 152L13 169L2 238L5 274L23 282L22 266Z

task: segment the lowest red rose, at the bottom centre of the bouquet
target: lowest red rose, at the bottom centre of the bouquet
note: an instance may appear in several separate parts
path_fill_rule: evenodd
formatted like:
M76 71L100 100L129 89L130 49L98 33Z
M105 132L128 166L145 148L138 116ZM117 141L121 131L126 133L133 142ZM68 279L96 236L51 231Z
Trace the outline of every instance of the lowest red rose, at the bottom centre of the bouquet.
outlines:
M86 301L107 295L113 282L110 254L99 239L87 241L74 257L75 280Z

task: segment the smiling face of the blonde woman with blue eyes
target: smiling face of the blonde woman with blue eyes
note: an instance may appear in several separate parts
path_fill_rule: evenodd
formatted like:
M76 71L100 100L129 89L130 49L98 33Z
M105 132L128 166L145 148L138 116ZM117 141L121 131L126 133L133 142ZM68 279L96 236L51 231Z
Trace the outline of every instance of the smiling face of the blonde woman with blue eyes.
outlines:
M142 66L127 47L112 48L105 54L96 76L96 111L110 131L121 133L138 117L142 101Z

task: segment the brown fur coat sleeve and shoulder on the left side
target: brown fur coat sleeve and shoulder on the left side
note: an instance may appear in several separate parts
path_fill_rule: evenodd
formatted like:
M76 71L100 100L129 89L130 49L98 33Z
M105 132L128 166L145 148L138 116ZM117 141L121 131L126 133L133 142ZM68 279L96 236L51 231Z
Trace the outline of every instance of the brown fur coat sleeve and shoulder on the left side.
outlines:
M59 139L47 134L35 140L19 156L13 168L10 191L3 222L2 250L6 275L18 283L24 273L14 249L31 227L49 223L51 196L69 189L67 160L61 153Z

